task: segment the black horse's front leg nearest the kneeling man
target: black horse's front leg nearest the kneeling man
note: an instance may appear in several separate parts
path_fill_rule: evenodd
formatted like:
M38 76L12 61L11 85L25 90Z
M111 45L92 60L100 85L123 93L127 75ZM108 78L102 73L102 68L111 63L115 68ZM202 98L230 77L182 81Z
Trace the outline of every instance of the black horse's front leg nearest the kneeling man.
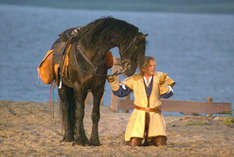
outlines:
M96 88L92 90L93 93L93 111L92 111L92 133L89 141L89 145L99 146L99 135L98 135L98 122L100 119L100 101L104 93L104 86L102 88Z

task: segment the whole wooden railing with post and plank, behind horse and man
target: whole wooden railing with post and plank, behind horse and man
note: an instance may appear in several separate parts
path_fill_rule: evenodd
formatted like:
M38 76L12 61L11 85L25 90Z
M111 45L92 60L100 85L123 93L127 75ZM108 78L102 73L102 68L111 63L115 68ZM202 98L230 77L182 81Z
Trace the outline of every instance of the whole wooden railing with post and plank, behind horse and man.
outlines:
M119 60L119 58L114 58L112 73L119 70ZM117 76L115 79L120 80L120 77ZM112 93L110 108L114 112L119 112L119 110L129 112L135 108L135 105L130 96L120 99ZM162 111L186 114L232 114L232 106L231 103L227 102L212 102L210 97L207 98L207 102L162 99Z

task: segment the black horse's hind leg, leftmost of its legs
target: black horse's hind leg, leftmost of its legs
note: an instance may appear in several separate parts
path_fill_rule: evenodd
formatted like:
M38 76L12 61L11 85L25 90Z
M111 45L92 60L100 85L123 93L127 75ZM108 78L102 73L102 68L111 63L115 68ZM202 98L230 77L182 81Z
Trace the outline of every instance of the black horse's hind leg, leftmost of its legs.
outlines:
M73 99L73 89L62 85L58 89L60 97L60 110L62 113L62 124L64 135L62 141L70 142L74 140L75 125L75 104Z

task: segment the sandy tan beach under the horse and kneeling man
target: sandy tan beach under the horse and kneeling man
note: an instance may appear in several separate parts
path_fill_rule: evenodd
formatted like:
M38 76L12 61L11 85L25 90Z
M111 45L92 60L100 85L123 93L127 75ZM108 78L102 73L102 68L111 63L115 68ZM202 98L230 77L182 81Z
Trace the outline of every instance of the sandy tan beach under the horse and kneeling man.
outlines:
M84 125L91 132L91 106L86 105ZM72 146L60 142L62 127L58 103L0 101L0 157L150 157L234 156L234 128L221 118L166 116L168 145L130 147L123 143L129 113L114 113L101 106L101 146ZM54 118L53 118L54 113ZM217 120L218 119L218 120Z

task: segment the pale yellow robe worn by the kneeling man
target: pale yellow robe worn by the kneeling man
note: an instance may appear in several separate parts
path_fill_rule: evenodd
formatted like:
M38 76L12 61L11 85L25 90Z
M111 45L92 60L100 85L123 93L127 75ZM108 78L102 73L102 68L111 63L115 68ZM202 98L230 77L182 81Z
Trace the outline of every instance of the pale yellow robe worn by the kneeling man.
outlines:
M174 81L171 80L167 74L162 72L155 72L153 77L153 87L151 91L151 95L149 97L149 108L155 108L161 106L160 101L160 79L162 77L165 80L170 80L174 85ZM161 81L162 82L162 81ZM145 91L144 79L142 75L135 74L123 82L122 84L126 85L130 89L132 89L134 94L134 104L139 107L147 107L148 98ZM118 90L119 83L117 81L112 82L111 84L112 90ZM165 87L164 87L165 88ZM166 136L166 123L164 117L160 113L149 112L150 120L149 120L149 132L148 138L156 137L156 136ZM144 138L145 131L145 111L134 109L131 117L129 119L126 132L125 132L125 141L130 141L131 137Z

